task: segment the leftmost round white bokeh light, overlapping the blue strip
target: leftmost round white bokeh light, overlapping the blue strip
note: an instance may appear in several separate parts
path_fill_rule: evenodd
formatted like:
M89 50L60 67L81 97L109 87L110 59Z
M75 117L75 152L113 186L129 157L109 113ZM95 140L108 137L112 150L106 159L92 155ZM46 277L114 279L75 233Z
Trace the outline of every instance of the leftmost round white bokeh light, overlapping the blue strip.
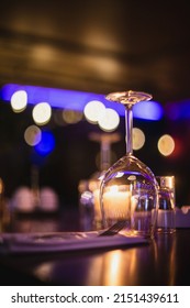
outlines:
M11 107L14 112L23 111L27 106L27 94L23 90L15 91L11 97Z

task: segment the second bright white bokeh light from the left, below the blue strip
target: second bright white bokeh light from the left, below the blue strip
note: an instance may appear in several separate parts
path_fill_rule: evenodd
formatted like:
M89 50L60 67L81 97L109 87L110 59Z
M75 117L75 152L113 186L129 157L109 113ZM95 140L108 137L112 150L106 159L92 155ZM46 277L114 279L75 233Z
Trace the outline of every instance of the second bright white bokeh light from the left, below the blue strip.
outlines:
M47 102L40 102L35 105L32 112L33 120L36 124L46 124L52 117L52 108Z

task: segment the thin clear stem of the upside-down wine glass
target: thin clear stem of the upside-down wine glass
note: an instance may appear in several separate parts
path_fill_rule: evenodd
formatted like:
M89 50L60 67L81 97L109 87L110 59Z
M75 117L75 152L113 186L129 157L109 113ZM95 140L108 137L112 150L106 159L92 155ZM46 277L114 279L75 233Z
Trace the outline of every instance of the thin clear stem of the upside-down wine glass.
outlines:
M126 155L133 154L133 111L132 106L125 106L125 142Z

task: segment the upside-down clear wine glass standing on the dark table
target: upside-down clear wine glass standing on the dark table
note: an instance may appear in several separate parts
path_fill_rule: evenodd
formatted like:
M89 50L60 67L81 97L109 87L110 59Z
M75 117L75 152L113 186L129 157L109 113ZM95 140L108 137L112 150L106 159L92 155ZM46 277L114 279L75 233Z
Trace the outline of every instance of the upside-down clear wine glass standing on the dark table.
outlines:
M125 107L126 154L104 174L100 186L103 227L126 221L132 234L153 238L158 211L158 185L155 175L133 155L133 106L152 99L138 91L112 92L105 97Z

